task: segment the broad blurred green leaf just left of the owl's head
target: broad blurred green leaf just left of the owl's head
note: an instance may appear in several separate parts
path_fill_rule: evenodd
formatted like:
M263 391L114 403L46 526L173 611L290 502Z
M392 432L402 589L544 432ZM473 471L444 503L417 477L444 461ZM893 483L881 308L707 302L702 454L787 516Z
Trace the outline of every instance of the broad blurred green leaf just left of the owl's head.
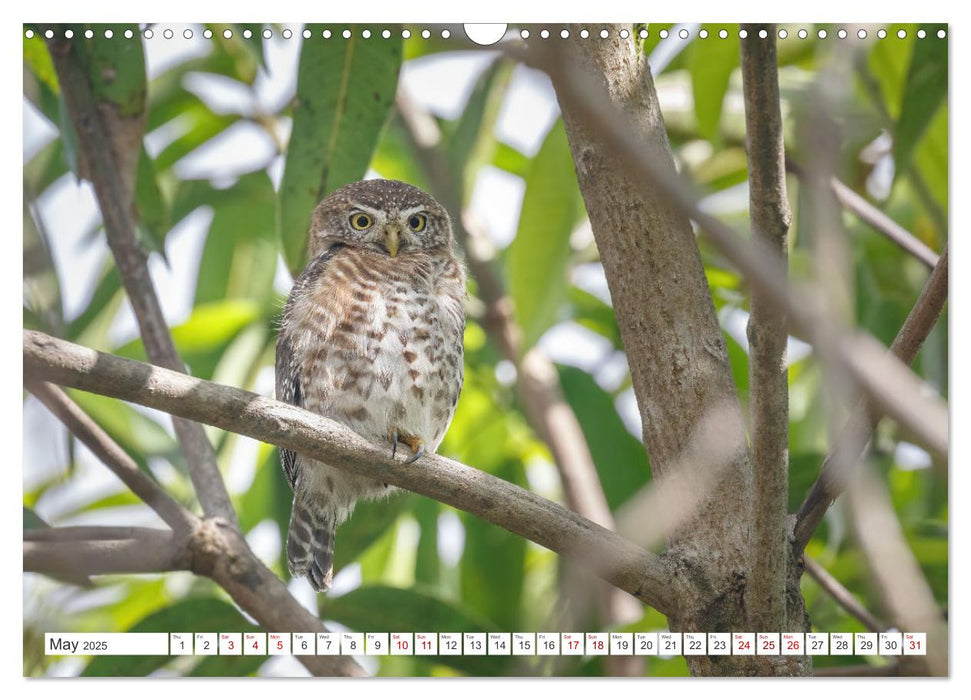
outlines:
M265 171L244 175L223 193L202 251L195 303L272 297L277 241L276 195Z

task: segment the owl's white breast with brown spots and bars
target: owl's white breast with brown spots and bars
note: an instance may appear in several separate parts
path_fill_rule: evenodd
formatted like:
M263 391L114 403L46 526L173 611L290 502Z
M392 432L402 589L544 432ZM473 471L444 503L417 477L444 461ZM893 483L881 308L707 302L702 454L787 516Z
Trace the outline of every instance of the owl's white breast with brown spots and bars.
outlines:
M291 313L315 329L296 349L306 407L375 442L397 431L437 448L462 386L464 295L452 258L338 251Z

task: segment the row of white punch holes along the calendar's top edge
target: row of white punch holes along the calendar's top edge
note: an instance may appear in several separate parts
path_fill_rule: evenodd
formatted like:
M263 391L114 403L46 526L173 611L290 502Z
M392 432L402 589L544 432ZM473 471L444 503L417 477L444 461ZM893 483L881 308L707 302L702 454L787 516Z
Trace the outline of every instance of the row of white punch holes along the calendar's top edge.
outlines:
M104 29L103 31L104 31L104 37L106 39L114 38L115 36L114 30L107 28L107 29ZM390 29L384 29L384 30L381 30L380 32L377 32L377 31L372 32L370 29L361 29L359 31L360 31L359 36L362 39L370 39L372 36L376 37L379 35L384 39L390 39L395 34L400 35L403 39L409 39L412 36L412 31L410 29L402 29L400 30L400 32L399 31L392 32ZM667 29L661 29L658 32L658 36L661 39L667 39L671 35L672 31L674 30L669 31ZM271 39L273 38L274 30L270 28L265 28L262 30L261 33L264 39ZM292 29L289 29L289 28L279 30L279 35L284 39L292 39L295 33L296 32L294 32ZM417 36L420 36L422 39L431 39L432 33L433 32L430 29L422 29ZM438 37L436 38L441 38L446 40L451 38L452 36L452 31L447 28L441 29L441 30L436 29L435 33L438 34ZM28 39L33 38L34 34L35 32L33 29L27 29L24 32L24 36L26 36ZM86 39L94 38L94 34L95 32L92 29L87 29L84 31L84 37ZM141 30L141 34L145 39L152 39L155 37L156 32L151 28L146 28ZM205 39L212 39L214 32L212 29L207 28L202 30L201 34ZM231 39L233 37L233 34L234 32L232 29L222 30L222 36L225 39ZM251 29L244 29L240 32L240 34L244 39L251 39L253 37L253 31ZM310 29L304 29L302 32L300 32L300 34L303 36L304 39L310 39L311 37L313 37L313 32ZM343 37L344 39L350 39L354 34L355 32L351 29L344 29L340 32L334 32L334 31L331 31L330 29L324 29L320 32L320 36L323 39L337 38L338 36ZM518 34L523 39L528 39L533 35L529 29L520 29L518 30ZM541 39L548 39L551 36L552 37L559 36L561 39L569 39L571 36L569 29L561 29L559 31L554 30L553 32L551 32L549 29L540 29L538 32L536 32L536 34ZM587 29L581 29L579 32L577 32L577 34L581 39L588 39L592 35L597 35L601 39L608 39L610 38L611 32L608 29L601 29L599 30L599 32L594 31L593 33L591 33ZM616 34L621 39L628 39L630 38L632 32L628 29L620 29L616 31ZM650 36L650 31L647 29L640 29L636 32L636 34L641 39L647 39ZM691 34L692 32L686 28L677 29L677 36L680 39L688 39L691 37ZM830 36L829 32L826 29L818 29L815 31L815 34L819 39L826 39ZM947 32L944 29L938 29L936 34L938 39L943 39L947 36ZM118 33L118 36L124 37L125 39L131 39L134 37L134 35L135 35L135 32L132 31L131 29L126 29L123 32ZM798 31L795 31L792 33L790 33L785 28L780 28L778 30L778 37L780 39L788 39L790 36L795 36L800 39L806 39L809 37L809 35L810 35L810 31L807 29L799 29ZM861 28L856 30L855 35L858 39L866 39L869 34L866 29ZM907 30L898 29L893 35L895 35L898 39L906 39ZM55 32L52 29L47 29L43 32L43 36L46 37L47 39L53 39L55 36ZM175 32L172 29L163 29L161 30L161 36L164 39L172 39L175 37ZM195 36L195 32L192 29L185 29L182 31L182 37L185 39L191 39L194 36ZM702 28L697 31L697 36L699 39L707 39L709 37L715 38L716 36L719 39L727 39L729 37L729 31L727 29L719 29L717 32L709 32L707 29ZM748 36L748 31L745 29L739 29L738 36L741 39L745 39ZM835 32L835 36L839 39L846 39L847 37L850 36L850 32L844 28L837 29ZM886 29L878 29L876 31L876 36L878 39L886 39L887 36L891 36L891 34L888 34ZM924 39L927 37L927 32L924 29L918 29L916 32L916 36L918 39ZM760 30L759 37L762 39L767 38L768 32L765 29ZM74 38L74 31L71 29L65 30L64 38L66 39Z

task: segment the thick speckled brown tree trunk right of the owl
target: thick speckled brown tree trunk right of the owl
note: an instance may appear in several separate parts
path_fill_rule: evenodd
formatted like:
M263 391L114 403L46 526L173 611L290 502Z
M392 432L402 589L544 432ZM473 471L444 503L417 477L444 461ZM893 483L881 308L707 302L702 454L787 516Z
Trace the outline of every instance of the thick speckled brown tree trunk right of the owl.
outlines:
M586 26L586 25L585 25ZM577 28L579 29L579 28ZM673 168L664 123L646 57L634 39L591 38L570 46L562 60L589 74L605 99L627 117L658 167ZM557 79L554 78L554 87ZM560 91L558 90L558 94ZM644 444L657 481L679 463L690 463L689 439L716 407L738 416L729 421L742 434L717 436L722 445L745 445L744 422L728 353L691 224L628 171L579 111L561 98L561 110L593 233L627 351ZM684 475L682 475L684 476ZM704 474L687 475L706 488ZM784 631L751 629L747 582L757 572L749 560L753 534L754 480L751 457L736 449L695 516L670 538L674 566L694 582L669 618L682 631ZM785 594L793 630L807 621L798 577ZM784 624L780 621L780 624ZM689 656L696 675L805 675L801 657Z

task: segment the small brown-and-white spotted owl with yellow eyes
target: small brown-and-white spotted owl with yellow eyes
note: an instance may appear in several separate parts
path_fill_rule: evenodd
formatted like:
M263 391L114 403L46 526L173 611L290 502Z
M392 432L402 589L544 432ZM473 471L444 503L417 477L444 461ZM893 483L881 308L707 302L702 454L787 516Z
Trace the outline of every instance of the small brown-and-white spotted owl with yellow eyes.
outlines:
M404 464L434 452L462 389L465 270L448 213L397 180L341 187L315 209L310 263L276 347L280 401L343 423ZM360 499L393 488L281 450L293 489L287 561L318 591L334 535Z

